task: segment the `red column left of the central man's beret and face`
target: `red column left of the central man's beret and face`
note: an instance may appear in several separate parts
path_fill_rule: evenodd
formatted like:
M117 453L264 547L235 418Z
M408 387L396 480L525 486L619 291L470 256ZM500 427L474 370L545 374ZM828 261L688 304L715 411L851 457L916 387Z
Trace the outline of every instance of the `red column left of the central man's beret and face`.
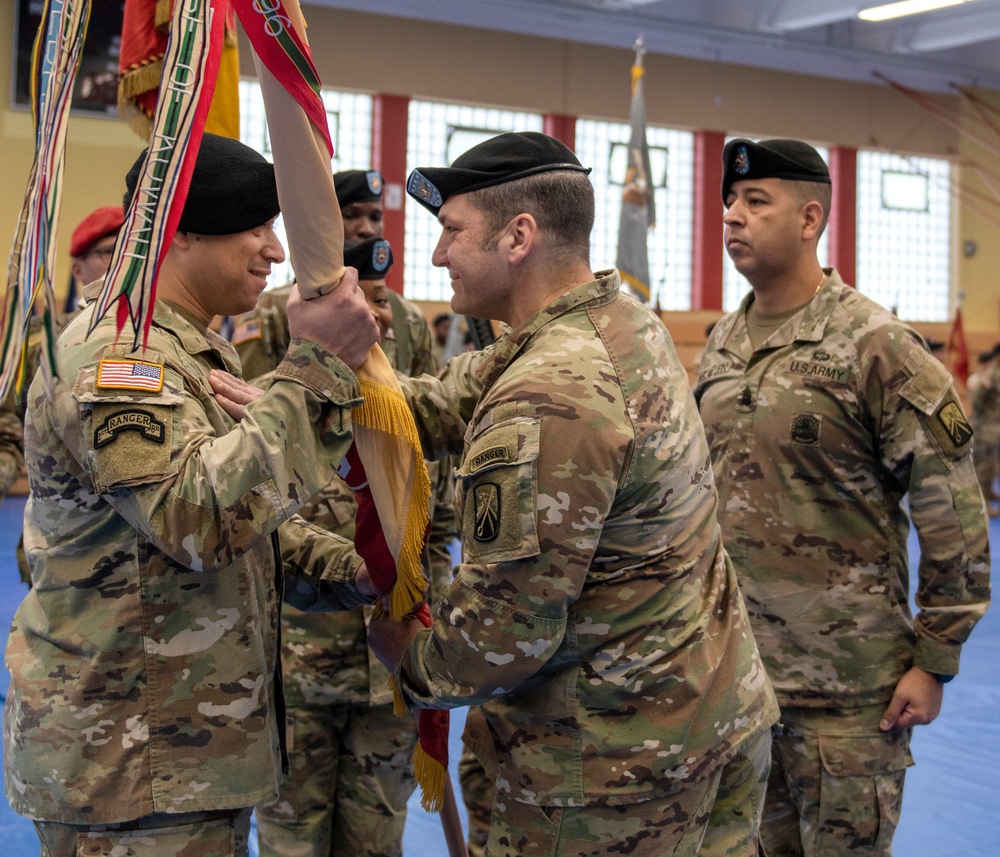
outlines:
M386 285L403 293L403 237L406 233L406 137L410 99L405 95L372 98L372 168L382 173L383 237L392 245Z

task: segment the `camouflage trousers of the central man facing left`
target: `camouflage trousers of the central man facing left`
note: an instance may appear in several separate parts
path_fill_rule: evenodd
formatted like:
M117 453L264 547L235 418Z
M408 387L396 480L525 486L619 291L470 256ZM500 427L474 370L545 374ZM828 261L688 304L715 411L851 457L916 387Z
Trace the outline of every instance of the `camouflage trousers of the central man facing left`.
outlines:
M618 806L539 807L497 794L486 857L755 857L768 732L710 776Z

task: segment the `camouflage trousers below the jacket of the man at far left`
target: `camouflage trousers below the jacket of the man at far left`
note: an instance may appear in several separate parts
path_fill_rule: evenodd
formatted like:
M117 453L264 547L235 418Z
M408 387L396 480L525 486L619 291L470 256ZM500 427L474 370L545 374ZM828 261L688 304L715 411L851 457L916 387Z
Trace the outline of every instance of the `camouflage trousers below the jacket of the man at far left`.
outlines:
M250 809L147 815L121 824L36 821L42 857L248 857Z

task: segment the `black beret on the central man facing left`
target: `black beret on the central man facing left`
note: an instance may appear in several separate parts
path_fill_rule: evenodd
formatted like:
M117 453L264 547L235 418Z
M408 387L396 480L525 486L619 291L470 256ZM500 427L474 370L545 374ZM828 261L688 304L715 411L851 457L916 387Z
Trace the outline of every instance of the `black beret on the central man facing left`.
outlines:
M418 167L406 180L406 192L436 216L449 197L552 170L590 172L555 137L512 131L473 146L450 167Z

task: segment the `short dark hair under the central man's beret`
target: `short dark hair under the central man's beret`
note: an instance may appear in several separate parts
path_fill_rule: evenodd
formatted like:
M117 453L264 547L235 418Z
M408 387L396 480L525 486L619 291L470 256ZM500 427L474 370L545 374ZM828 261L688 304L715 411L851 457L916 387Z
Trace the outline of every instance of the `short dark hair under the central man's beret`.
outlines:
M486 219L484 246L495 247L500 231L518 214L530 214L566 259L590 262L594 186L586 173L549 170L470 191L469 201Z

